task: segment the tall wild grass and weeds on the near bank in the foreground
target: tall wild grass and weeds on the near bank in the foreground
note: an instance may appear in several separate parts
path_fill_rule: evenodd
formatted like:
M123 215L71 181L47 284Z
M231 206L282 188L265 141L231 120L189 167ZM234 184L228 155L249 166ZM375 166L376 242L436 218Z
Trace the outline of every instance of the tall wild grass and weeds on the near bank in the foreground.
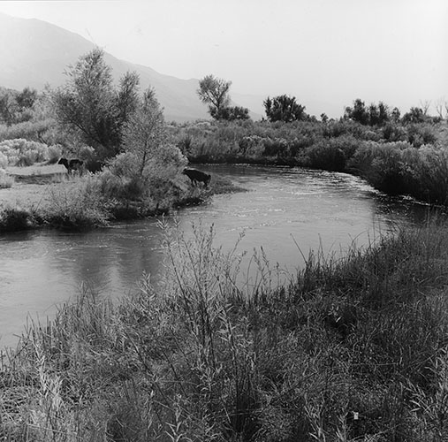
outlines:
M166 231L161 286L33 324L0 371L6 441L448 438L448 230L403 230L288 286ZM239 279L240 280L240 279Z

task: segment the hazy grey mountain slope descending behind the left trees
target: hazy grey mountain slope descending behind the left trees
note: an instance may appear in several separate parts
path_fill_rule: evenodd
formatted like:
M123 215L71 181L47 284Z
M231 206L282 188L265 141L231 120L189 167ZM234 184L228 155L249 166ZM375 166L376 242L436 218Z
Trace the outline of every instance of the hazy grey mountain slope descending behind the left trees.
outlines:
M95 45L79 34L38 19L18 19L0 13L0 86L21 90L27 86L41 90L46 84L55 88L67 80L64 72L81 55ZM104 61L112 68L115 80L125 72L140 75L140 88L156 89L157 99L164 109L166 120L187 121L209 118L207 106L196 94L199 80L181 80L156 72L148 66L134 65L104 53ZM251 109L250 95L231 94L235 104ZM240 99L240 101L239 101ZM262 106L262 97L258 103ZM260 108L261 109L261 108ZM261 115L251 112L254 119Z

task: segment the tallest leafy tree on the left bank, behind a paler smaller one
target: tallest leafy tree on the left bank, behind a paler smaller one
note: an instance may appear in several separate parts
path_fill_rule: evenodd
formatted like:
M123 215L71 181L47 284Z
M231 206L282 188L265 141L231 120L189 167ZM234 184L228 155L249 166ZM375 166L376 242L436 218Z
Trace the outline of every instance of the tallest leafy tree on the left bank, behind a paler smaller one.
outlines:
M136 106L139 79L127 72L117 90L103 58L100 49L81 56L67 72L65 87L54 92L53 103L61 124L78 131L100 156L109 157L120 150L123 128Z

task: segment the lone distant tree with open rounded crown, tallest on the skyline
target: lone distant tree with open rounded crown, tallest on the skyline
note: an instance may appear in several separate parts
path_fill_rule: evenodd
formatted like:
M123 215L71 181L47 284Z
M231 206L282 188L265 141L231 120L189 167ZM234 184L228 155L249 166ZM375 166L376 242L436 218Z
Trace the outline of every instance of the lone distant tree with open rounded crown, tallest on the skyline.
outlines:
M222 80L213 75L207 75L199 81L196 92L202 103L209 104L209 113L213 118L219 119L223 109L229 105L231 85L232 81Z

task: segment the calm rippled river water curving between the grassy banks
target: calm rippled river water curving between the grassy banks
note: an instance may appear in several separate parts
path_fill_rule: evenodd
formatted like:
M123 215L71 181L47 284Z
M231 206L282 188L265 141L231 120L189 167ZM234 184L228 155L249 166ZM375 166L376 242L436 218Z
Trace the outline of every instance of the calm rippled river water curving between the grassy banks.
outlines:
M412 202L391 200L362 179L326 171L259 166L201 166L247 192L215 195L179 210L180 228L214 225L216 246L238 253L263 249L271 264L293 273L309 249L344 253L399 224L425 215ZM144 272L163 272L163 232L156 219L117 223L90 232L17 232L0 235L0 347L11 346L27 317L45 320L82 285L117 299L137 290ZM250 261L250 260L249 260ZM250 273L249 261L247 269ZM29 315L29 316L28 316Z

